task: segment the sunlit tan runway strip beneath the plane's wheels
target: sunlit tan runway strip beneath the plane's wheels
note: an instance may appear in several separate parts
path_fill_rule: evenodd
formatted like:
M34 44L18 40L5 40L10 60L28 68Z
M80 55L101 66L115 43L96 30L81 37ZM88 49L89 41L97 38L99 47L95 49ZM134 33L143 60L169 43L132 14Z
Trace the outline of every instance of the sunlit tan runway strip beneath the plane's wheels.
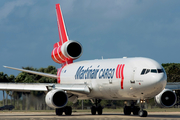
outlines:
M0 120L179 120L180 112L149 112L148 117L125 116L123 113L105 112L103 115L74 112L71 116L56 116L54 112L0 112Z

